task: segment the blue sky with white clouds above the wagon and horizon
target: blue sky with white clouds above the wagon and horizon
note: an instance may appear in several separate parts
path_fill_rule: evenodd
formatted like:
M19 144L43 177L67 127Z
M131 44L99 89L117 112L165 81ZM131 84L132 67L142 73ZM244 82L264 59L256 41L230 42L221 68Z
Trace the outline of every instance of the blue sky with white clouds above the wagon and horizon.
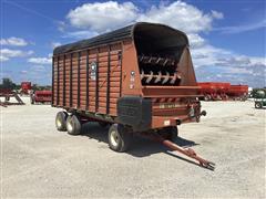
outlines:
M264 0L0 2L0 78L49 85L55 46L146 21L188 35L198 82L266 86Z

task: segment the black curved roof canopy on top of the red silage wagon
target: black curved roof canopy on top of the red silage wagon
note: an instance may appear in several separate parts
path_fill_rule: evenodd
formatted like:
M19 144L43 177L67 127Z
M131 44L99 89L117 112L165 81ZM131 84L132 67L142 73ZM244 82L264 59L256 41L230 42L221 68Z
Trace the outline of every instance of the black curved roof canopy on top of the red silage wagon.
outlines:
M155 33L155 34L154 34ZM117 29L112 32L100 34L98 36L81 40L74 43L58 46L53 50L53 54L68 53L81 49L88 49L91 46L98 46L103 44L109 44L117 41L123 41L125 39L134 40L140 35L151 36L152 40L160 39L162 36L170 38L170 42L175 45L188 45L188 39L186 34L182 31L173 29L171 27L158 24L158 23L146 23L137 22L135 24Z

